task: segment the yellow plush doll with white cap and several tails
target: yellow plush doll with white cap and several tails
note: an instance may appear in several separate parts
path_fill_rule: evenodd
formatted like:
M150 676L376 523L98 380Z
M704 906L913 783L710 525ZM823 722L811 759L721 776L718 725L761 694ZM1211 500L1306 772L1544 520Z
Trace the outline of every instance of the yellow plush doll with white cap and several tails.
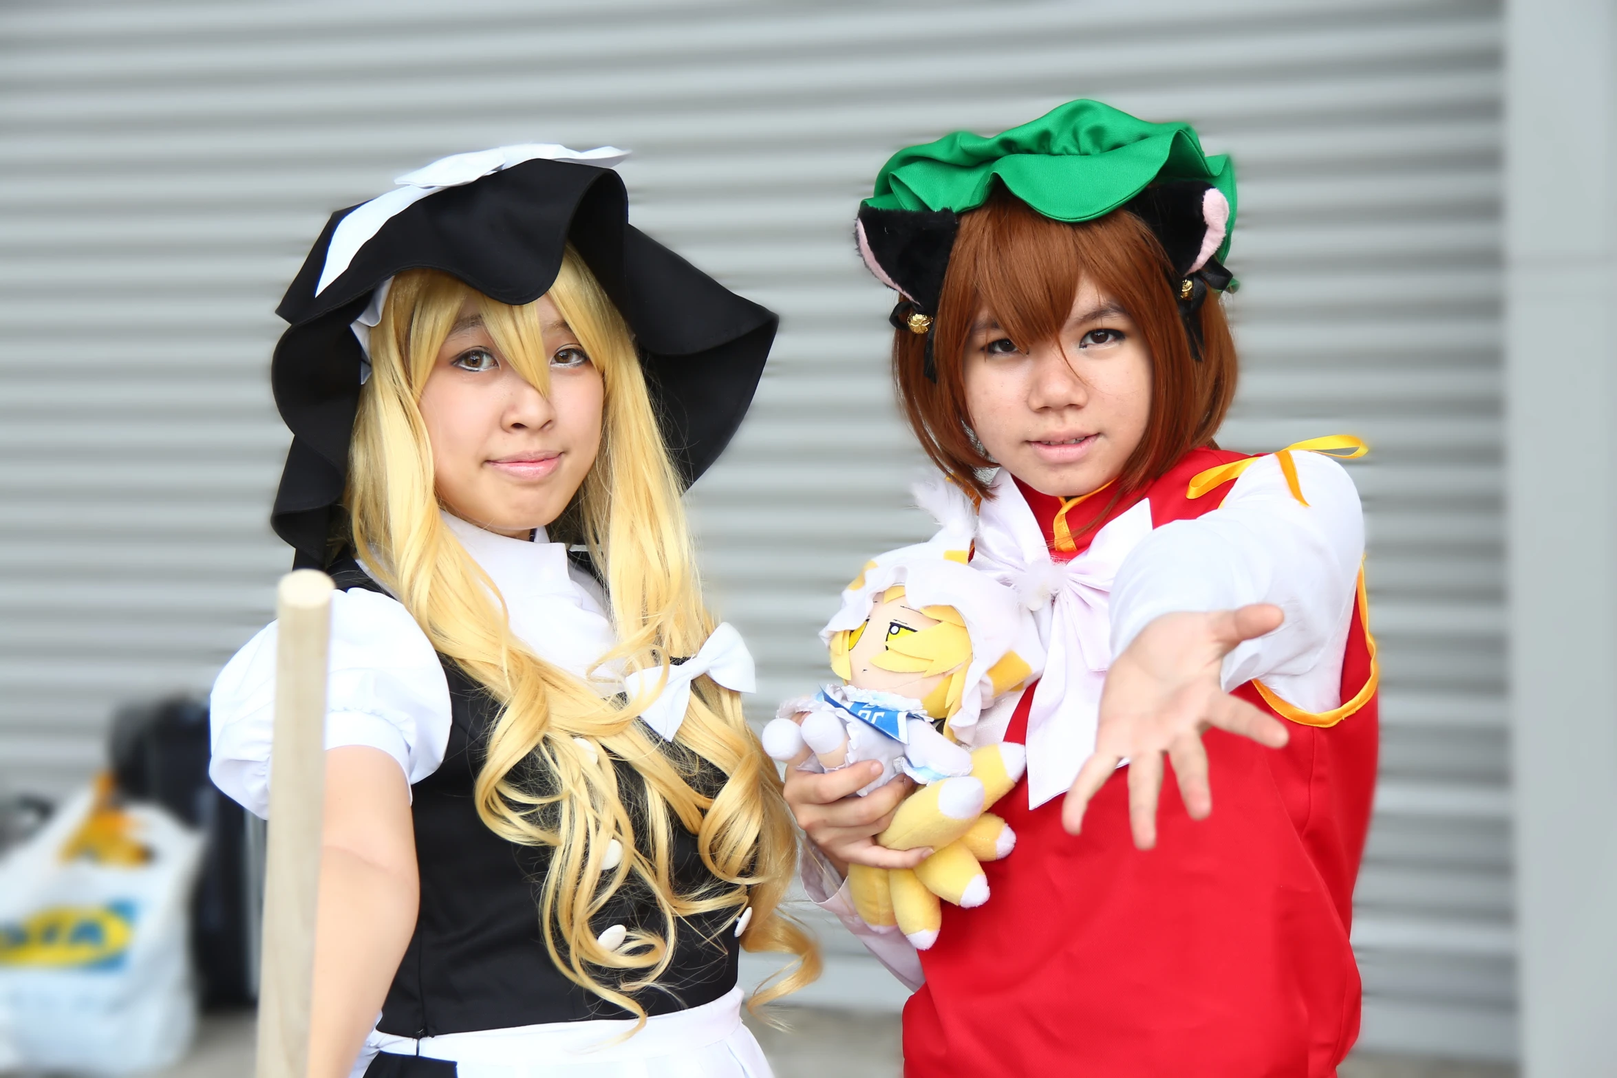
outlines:
M975 514L965 496L939 480L917 486L915 498L939 532L881 554L842 592L842 608L820 634L842 684L784 703L763 745L776 760L807 747L812 755L799 764L807 769L881 761L860 795L899 773L920 784L876 840L933 853L914 870L854 865L849 892L867 923L897 926L925 950L938 937L939 900L986 902L982 861L1015 845L1011 827L986 810L1015 785L1025 753L999 743L993 713L1043 666L1043 648L1017 595L967 567Z

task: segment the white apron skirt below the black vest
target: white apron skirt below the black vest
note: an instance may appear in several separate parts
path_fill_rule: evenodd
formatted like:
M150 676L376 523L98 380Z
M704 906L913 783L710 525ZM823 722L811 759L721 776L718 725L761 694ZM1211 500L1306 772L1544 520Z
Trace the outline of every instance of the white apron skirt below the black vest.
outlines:
M372 1033L354 1063L361 1078L377 1052L451 1060L459 1078L773 1078L763 1049L741 1023L741 987L711 1004L652 1015L626 1041L632 1018L548 1021L509 1030L399 1038Z

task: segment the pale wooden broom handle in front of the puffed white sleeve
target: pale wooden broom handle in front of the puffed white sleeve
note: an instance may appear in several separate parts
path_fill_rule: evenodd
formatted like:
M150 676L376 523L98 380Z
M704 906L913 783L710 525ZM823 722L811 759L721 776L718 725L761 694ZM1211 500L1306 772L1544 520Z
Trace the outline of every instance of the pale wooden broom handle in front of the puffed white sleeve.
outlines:
M275 743L259 963L257 1078L304 1078L314 991L314 920L325 813L325 672L331 577L281 577L275 645Z

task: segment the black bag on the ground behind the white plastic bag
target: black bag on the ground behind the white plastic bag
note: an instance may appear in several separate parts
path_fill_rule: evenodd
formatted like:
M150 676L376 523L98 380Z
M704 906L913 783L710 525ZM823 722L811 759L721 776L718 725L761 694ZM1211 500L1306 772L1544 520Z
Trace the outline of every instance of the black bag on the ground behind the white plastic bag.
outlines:
M191 903L191 958L202 1005L251 1004L257 996L257 850L246 811L207 777L207 705L175 697L120 708L110 748L123 797L155 802L204 834Z

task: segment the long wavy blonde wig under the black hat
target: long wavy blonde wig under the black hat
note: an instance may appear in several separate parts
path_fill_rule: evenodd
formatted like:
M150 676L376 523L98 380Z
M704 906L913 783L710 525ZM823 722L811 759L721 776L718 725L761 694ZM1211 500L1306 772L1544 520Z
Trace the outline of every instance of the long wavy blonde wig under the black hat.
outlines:
M694 655L713 630L679 480L629 328L574 251L568 249L548 296L605 385L600 454L551 538L585 543L606 582L619 645L603 661L624 671L661 667L666 676L669 658ZM482 314L501 362L540 393L548 390L534 304L492 301L433 270L398 275L370 335L372 377L361 393L344 503L354 546L369 551L382 583L432 645L501 706L477 777L477 811L511 842L551 847L538 899L551 960L642 1023L645 1010L631 994L657 984L676 931L692 931L681 916L729 910L721 929L729 931L750 905L742 947L797 955L750 1005L796 991L820 973L812 937L779 908L797 839L775 764L744 721L737 693L697 679L676 745L661 745L635 722L650 695L602 700L511 634L493 580L440 517L417 402L466 304ZM695 756L723 771L723 785L694 785ZM619 790L613 760L632 764L644 792ZM676 892L676 826L697 837L718 881L699 894ZM624 857L608 870L613 839ZM626 886L655 895L661 931L637 929L618 950L606 950L590 918Z

